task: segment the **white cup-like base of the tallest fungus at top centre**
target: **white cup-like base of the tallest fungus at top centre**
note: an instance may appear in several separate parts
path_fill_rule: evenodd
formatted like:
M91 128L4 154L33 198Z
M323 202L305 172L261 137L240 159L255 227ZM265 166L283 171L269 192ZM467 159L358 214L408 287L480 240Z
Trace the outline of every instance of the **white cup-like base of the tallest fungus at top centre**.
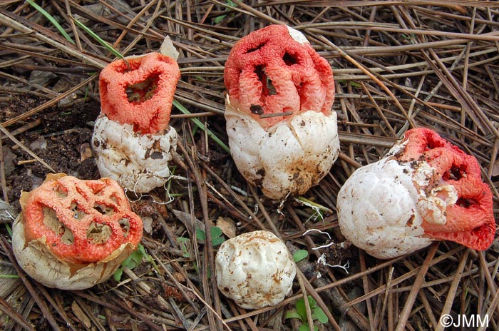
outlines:
M268 198L303 194L317 185L339 155L336 113L304 111L265 130L227 96L227 136L243 176Z

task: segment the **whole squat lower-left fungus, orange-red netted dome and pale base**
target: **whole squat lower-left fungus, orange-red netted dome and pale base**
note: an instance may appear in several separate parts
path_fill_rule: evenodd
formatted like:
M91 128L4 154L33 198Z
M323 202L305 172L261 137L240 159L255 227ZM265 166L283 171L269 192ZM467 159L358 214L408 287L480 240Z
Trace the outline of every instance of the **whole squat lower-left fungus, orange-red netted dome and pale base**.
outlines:
M14 255L48 287L81 290L107 280L142 238L142 220L109 178L49 174L41 186L23 192L20 203Z

